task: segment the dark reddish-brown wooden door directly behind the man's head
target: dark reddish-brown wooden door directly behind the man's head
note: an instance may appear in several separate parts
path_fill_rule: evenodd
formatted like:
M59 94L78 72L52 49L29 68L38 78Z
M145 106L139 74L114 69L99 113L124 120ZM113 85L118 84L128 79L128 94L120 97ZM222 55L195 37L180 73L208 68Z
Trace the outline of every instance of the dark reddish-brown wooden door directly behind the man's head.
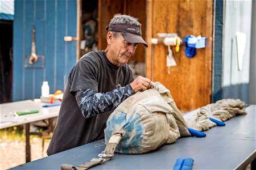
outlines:
M114 14L130 15L139 19L142 24L142 37L146 37L146 0L98 0L98 49L104 50L106 42L106 26ZM141 44L130 61L144 62L145 48ZM129 62L130 62L129 61Z

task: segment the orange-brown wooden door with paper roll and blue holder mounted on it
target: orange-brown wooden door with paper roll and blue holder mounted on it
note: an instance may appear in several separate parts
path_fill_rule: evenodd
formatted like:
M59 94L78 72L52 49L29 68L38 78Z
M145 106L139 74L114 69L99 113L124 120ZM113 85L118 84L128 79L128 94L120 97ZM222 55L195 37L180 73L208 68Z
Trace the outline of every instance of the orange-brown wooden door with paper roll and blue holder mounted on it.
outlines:
M191 111L210 103L212 82L213 1L147 1L148 49L146 50L146 75L154 82L166 86L181 112ZM177 33L207 37L206 48L196 49L196 56L188 58L184 45L172 52L177 66L167 73L167 46L152 45L157 33Z

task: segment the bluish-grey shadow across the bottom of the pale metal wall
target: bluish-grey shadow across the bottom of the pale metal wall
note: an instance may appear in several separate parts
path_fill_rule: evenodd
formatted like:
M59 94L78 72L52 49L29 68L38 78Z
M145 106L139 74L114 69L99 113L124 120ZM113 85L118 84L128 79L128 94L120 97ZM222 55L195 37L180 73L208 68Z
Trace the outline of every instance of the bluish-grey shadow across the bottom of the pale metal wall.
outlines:
M222 88L222 99L240 99L249 104L249 83L225 86Z

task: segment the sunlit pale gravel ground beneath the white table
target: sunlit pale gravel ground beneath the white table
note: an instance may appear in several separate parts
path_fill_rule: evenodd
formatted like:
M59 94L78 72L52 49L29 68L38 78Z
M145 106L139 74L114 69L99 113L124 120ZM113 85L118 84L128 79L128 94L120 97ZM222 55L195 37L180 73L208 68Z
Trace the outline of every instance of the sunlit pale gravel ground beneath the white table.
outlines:
M26 163L26 142L24 139L0 139L0 143L0 169L9 169ZM30 137L31 161L46 157L48 146L49 140L46 140L44 142L44 152L42 153L42 139Z

